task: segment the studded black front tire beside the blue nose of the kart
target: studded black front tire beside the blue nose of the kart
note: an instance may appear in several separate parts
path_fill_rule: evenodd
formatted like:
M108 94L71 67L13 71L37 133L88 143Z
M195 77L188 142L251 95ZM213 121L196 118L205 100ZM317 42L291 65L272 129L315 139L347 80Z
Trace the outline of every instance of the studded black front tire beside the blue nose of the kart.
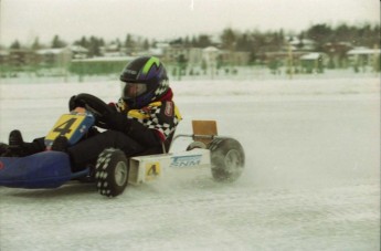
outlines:
M128 184L129 165L119 149L105 149L95 166L95 184L100 195L116 197L124 192Z

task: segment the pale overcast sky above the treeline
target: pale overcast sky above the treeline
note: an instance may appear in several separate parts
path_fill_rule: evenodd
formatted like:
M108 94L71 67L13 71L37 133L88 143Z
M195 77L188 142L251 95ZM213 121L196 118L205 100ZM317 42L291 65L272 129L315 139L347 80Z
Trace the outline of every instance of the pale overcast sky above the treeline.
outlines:
M224 28L295 31L311 24L380 22L379 0L0 0L0 43L50 43L127 33L157 40Z

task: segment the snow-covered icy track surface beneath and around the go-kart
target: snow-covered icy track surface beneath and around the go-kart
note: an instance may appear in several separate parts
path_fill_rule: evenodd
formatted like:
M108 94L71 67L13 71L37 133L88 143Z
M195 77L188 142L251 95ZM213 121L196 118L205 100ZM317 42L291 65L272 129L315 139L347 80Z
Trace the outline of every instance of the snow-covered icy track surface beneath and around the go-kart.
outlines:
M245 148L231 185L209 170L129 186L0 188L0 250L380 250L380 79L173 82L184 117ZM117 100L117 82L0 85L0 139L45 135L68 97ZM176 142L174 150L188 142Z

